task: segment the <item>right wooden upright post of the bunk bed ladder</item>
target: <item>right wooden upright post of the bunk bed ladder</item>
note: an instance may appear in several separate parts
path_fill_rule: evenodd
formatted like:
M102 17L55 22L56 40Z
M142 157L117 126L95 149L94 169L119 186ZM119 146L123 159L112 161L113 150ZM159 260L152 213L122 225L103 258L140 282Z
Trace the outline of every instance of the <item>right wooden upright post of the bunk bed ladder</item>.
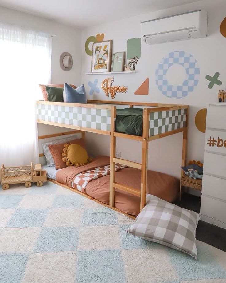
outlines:
M148 138L149 138L149 111L148 111L147 108L144 108L143 136L142 136L142 168L141 168L140 211L144 208L144 206L146 204Z

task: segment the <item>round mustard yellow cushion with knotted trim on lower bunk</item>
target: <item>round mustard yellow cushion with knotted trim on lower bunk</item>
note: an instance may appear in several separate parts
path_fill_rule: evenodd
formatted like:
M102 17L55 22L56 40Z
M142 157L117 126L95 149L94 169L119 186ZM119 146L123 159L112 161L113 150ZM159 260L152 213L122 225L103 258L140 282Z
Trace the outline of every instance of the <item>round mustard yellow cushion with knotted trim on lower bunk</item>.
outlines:
M66 162L66 165L83 166L88 164L92 159L88 156L87 151L79 144L64 144L62 160Z

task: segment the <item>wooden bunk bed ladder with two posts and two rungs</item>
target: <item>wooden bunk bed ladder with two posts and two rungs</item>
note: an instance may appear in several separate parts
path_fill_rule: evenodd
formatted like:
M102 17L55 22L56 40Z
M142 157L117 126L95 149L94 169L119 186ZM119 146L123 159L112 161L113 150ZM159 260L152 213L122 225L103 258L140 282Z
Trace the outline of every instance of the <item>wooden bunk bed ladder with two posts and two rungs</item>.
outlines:
M109 205L115 206L115 188L124 192L131 193L140 197L140 211L146 204L146 187L147 187L147 161L148 161L148 138L149 138L149 115L147 108L144 108L143 115L143 135L142 135L142 163L137 163L121 158L115 157L116 137L115 132L115 119L116 119L116 106L111 109L111 141L110 141L110 199ZM129 167L141 170L141 190L131 188L129 186L115 182L115 163L127 165Z

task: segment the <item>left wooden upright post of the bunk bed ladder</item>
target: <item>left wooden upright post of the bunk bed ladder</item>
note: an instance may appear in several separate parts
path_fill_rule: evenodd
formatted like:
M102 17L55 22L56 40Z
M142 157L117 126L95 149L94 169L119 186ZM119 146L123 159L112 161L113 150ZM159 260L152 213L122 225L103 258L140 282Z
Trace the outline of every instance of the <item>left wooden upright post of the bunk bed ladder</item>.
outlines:
M114 137L115 131L115 119L116 119L116 106L111 106L111 135L110 135L110 195L109 195L109 205L111 207L115 206L115 188L113 183L115 183L115 147L116 147L116 137Z

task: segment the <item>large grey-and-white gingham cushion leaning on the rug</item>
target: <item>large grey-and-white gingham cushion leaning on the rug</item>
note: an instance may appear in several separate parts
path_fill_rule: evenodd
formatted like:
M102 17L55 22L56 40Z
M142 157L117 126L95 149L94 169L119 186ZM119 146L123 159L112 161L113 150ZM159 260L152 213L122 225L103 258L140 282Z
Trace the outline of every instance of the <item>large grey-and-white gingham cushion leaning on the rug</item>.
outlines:
M197 256L195 231L200 214L147 195L147 204L127 230L135 236Z

